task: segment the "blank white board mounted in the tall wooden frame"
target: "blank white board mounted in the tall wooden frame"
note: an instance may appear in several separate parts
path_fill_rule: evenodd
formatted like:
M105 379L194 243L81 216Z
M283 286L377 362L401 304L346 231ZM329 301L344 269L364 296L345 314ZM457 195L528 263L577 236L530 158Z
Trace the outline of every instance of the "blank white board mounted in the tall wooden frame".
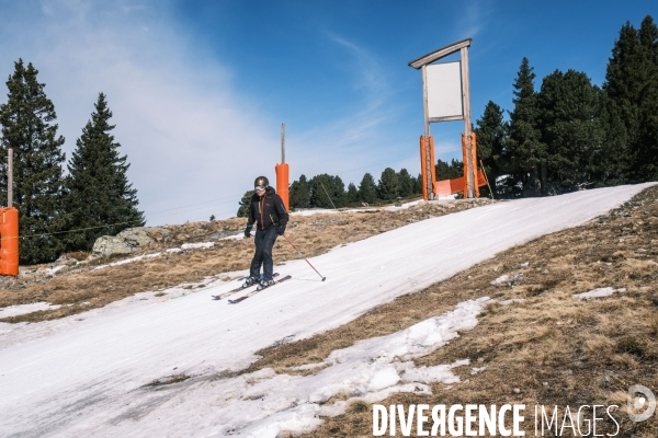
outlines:
M428 117L464 117L462 62L427 66Z

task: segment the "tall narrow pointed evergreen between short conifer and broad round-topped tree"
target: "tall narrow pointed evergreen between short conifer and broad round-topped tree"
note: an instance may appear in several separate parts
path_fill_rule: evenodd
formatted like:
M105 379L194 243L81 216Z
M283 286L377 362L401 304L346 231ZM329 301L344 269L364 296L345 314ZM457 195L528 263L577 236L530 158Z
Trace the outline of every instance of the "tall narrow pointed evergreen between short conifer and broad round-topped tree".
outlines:
M535 73L523 58L514 81L514 111L510 113L509 157L512 184L522 186L523 196L546 194L546 146L537 128L537 105L534 91Z

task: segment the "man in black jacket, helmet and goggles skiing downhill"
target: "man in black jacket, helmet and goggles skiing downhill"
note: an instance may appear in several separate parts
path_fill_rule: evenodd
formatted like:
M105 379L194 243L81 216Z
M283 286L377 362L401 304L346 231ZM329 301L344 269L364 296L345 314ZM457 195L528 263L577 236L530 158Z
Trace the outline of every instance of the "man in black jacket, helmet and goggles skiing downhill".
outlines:
M251 197L249 206L249 217L245 237L251 237L251 228L256 222L256 253L251 260L249 278L242 287L249 287L260 283L261 288L266 288L274 284L272 279L273 261L272 246L276 237L283 235L287 224L288 214L285 210L283 200L276 194L274 188L270 187L270 182L264 176L259 176L253 182L256 194ZM263 267L263 278L260 278L260 268Z

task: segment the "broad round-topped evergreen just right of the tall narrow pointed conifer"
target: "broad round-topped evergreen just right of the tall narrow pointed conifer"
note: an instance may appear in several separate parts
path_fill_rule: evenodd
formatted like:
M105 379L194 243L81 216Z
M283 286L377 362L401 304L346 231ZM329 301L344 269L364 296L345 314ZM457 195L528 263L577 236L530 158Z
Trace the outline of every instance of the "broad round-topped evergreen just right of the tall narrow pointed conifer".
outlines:
M593 160L603 142L600 97L600 89L582 72L556 70L544 78L537 95L537 120L542 143L546 145L551 194L593 184Z

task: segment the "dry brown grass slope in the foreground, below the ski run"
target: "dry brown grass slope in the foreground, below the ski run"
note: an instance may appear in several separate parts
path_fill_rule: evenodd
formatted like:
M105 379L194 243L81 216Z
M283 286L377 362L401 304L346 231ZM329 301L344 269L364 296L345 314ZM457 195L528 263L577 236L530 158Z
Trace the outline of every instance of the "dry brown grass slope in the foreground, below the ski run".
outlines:
M567 405L617 404L617 436L655 437L656 416L631 423L625 405L633 384L658 392L657 199L658 187L648 188L586 226L510 249L336 330L259 351L262 358L249 371L288 372L287 367L320 361L336 348L406 328L466 299L522 298L522 303L487 307L475 330L416 360L435 366L468 358L474 367L487 366L484 372L470 376L470 367L461 367L461 384L435 383L433 395L397 394L381 404L524 403L558 405L560 412ZM521 267L524 263L529 266ZM500 275L519 273L524 278L514 287L490 285ZM589 301L572 297L598 287L627 291ZM526 408L527 435L534 435L533 416L534 408ZM370 405L325 419L307 436L372 436ZM613 434L615 426L599 424L597 431Z

